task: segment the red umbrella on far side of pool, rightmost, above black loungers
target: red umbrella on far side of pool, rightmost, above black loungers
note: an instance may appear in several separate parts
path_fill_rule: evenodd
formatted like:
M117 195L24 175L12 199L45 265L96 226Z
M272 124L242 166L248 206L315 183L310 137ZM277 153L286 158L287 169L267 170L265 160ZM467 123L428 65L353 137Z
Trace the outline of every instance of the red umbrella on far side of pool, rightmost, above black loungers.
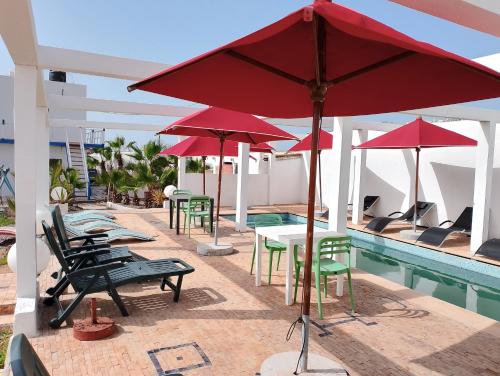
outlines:
M419 117L402 127L356 146L356 149L415 149L417 157L415 163L413 231L416 231L420 150L424 148L476 145L477 142L472 138L438 127Z

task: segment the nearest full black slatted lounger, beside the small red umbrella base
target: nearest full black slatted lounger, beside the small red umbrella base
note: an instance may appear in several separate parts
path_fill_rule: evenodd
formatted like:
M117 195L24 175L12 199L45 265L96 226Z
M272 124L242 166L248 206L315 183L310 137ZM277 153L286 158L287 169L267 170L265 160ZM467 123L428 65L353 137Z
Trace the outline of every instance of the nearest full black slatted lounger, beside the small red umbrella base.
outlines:
M98 292L107 291L120 309L121 314L128 316L127 309L118 295L116 288L130 283L161 279L160 288L164 290L165 286L170 287L174 291L174 302L177 302L181 293L182 278L185 274L194 272L192 266L176 258L135 261L127 264L113 262L84 266L92 257L102 255L109 250L103 248L65 257L49 225L45 221L42 221L42 226L49 247L57 257L69 284L71 284L76 293L75 298L66 308L62 306L59 300L59 297L65 290L62 287L56 290L52 297L44 301L47 305L56 303L58 306L57 316L49 322L49 326L54 329L61 326L86 295ZM69 261L82 262L83 265L75 269L75 267L70 265ZM171 277L177 277L177 284L170 281Z

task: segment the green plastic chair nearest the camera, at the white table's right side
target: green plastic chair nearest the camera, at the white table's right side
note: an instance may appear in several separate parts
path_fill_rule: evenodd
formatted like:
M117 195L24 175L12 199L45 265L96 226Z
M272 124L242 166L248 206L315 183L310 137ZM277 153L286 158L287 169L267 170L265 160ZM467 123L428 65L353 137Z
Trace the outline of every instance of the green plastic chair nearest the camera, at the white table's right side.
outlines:
M347 265L337 262L333 259L333 255L347 253ZM297 300L297 289L299 285L300 270L304 267L304 260L299 260L298 250L294 249L295 259L295 293L293 302ZM356 311L356 303L352 293L351 279L351 237L345 236L341 238L324 238L319 241L318 248L313 255L312 271L316 284L316 294L318 300L319 318L323 319L323 306L321 305L321 276L324 277L324 292L327 296L327 279L331 275L347 274L349 284L349 299L351 301L352 313Z

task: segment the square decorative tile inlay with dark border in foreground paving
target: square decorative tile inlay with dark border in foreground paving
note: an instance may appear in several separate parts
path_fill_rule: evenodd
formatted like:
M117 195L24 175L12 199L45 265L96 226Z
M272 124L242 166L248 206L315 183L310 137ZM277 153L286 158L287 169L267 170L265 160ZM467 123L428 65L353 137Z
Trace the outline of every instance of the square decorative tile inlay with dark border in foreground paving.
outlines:
M212 365L196 342L153 349L147 353L158 376L181 376L180 372Z

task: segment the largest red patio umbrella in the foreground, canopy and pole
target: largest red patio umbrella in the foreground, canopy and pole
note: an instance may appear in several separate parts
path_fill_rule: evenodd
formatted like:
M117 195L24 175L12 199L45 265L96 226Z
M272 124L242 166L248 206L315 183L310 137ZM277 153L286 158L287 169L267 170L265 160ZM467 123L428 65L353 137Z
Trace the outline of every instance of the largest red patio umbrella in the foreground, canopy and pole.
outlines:
M495 98L500 74L329 0L316 0L128 89L268 117L313 116L302 309L301 367L306 369L321 117Z

